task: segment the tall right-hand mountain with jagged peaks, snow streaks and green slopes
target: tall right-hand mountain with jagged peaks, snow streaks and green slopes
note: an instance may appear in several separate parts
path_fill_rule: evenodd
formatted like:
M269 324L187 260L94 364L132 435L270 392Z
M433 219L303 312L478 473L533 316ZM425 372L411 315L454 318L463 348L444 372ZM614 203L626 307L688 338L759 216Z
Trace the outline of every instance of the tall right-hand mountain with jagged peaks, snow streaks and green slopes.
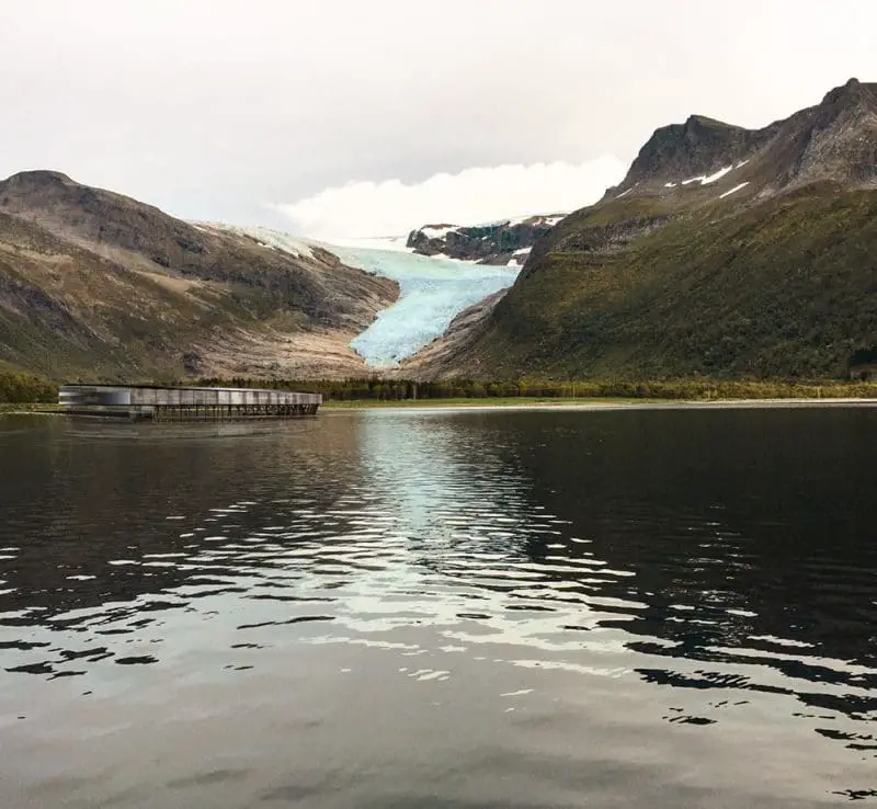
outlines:
M761 129L693 115L656 130L508 294L402 373L816 378L863 357L877 357L877 84L852 79Z

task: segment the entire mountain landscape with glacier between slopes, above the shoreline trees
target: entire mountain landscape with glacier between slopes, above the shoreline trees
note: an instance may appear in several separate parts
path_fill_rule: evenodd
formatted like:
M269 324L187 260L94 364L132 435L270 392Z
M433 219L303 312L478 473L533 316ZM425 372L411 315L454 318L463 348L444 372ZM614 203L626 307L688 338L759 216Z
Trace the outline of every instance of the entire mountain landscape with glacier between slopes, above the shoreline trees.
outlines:
M834 379L877 356L877 86L660 127L593 205L330 244L0 182L0 364L48 379Z

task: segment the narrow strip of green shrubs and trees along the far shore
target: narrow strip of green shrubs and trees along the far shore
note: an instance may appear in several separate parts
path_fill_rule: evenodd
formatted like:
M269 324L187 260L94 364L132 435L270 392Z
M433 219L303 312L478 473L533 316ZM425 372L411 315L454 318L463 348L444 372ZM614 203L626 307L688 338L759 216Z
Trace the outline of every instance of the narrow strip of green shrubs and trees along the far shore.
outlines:
M101 380L107 381L110 380ZM327 403L446 402L526 403L533 400L577 401L580 399L662 399L709 401L718 399L864 399L877 398L877 383L799 379L669 379L657 381L595 380L485 381L451 379L414 381L369 377L345 380L259 379L235 377L157 384L206 387L277 388L322 394ZM58 386L23 373L0 371L0 403L54 403Z

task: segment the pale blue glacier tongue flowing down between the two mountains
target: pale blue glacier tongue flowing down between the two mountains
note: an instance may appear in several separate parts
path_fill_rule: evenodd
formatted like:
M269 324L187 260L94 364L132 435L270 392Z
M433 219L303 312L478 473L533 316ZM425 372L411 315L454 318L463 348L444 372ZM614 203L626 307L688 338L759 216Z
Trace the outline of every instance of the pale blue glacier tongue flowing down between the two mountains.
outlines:
M514 283L520 266L489 266L399 250L327 244L345 264L399 283L399 299L351 342L367 365L388 367L444 333L460 311Z

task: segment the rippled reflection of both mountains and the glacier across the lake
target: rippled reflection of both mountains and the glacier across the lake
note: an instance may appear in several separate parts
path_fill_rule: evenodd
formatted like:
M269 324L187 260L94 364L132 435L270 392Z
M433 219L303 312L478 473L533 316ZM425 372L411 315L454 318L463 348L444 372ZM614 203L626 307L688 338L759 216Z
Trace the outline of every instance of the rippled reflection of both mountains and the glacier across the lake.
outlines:
M626 675L616 695L688 700L669 721L754 703L753 727L764 708L875 749L873 411L212 430L0 432L19 458L0 486L0 668L81 673L143 637L172 666L191 642L282 645L322 622L341 642Z

